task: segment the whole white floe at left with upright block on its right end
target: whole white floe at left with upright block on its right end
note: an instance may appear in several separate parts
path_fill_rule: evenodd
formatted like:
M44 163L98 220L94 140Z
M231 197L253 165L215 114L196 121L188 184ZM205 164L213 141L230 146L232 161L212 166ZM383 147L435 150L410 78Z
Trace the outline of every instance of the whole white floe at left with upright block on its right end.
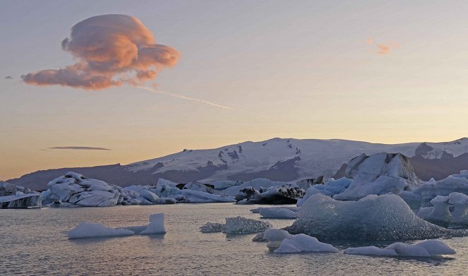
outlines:
M150 215L150 223L143 226L112 228L104 224L81 222L68 232L68 239L97 238L109 236L130 236L133 234L165 234L164 214Z

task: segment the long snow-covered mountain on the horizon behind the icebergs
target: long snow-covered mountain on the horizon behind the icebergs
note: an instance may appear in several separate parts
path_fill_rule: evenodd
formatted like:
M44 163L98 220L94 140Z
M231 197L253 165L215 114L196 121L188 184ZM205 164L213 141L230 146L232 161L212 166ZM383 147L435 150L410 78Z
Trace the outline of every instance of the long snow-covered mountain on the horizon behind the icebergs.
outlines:
M46 170L9 181L40 188L42 184L45 186L48 181L69 170L121 186L155 184L159 178L180 183L193 180L248 181L260 177L274 181L296 181L320 175L333 176L344 163L357 155L378 152L400 152L412 157L411 160L417 163L414 166L416 173L418 170L425 172L426 163L440 169L444 167L443 162L451 162L450 168L443 170L452 169L454 172L440 172L440 177L459 172L459 167L468 169L468 138L445 143L394 145L338 139L273 138L210 150L183 150L127 165ZM426 175L419 177L424 179Z

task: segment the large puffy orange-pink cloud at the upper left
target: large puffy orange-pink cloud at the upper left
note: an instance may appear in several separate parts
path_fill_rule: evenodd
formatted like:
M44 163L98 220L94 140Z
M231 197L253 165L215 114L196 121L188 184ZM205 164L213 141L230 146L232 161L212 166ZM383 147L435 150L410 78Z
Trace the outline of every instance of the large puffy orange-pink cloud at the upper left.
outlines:
M128 83L140 85L156 78L164 67L180 58L176 49L156 44L138 18L121 14L93 16L71 28L62 48L78 60L59 70L48 69L21 76L31 85L64 85L98 90Z

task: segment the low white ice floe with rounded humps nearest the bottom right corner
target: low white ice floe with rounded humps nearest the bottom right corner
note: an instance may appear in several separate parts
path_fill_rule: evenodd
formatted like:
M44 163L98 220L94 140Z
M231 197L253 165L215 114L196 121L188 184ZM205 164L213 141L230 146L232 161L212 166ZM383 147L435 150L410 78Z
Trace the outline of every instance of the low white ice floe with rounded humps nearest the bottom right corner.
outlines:
M438 239L421 241L418 244L404 244L396 242L385 248L376 246L364 246L347 248L345 254L369 255L369 256L409 256L409 257L431 257L455 254L455 250Z

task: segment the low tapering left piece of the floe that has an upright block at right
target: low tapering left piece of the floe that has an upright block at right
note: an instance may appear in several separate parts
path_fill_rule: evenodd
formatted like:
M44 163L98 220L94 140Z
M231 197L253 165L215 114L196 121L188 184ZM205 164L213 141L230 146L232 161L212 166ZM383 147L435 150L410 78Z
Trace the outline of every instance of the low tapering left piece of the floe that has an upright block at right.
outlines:
M68 232L68 239L95 238L102 236L129 236L134 232L127 229L114 229L103 224L81 222Z

